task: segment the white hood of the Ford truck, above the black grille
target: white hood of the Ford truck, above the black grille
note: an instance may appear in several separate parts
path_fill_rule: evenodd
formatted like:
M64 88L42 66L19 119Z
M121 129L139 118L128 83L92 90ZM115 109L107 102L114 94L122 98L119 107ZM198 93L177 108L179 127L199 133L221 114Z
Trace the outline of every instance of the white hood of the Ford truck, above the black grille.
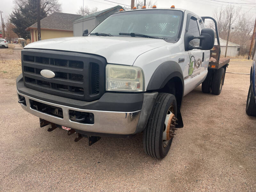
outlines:
M162 39L143 37L86 36L46 39L24 48L92 53L105 57L108 63L133 65L142 53L166 44Z

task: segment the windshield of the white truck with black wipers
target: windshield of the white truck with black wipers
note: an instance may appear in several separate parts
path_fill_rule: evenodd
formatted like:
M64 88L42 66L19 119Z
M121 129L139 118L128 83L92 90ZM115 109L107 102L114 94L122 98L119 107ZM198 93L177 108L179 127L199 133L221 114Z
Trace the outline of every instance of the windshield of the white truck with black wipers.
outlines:
M119 12L100 23L92 30L91 34L104 33L111 36L123 36L122 33L138 33L162 39L176 39L180 32L182 14L183 12L177 10Z

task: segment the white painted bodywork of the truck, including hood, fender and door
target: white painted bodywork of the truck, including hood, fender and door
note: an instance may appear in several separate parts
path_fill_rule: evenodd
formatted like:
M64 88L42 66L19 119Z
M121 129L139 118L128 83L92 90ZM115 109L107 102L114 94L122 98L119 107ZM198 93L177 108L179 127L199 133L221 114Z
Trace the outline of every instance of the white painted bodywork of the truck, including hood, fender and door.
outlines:
M158 66L166 61L180 62L180 68L184 77L184 95L201 84L207 76L210 51L193 49L185 51L184 35L187 22L187 14L184 11L183 27L180 39L177 43L168 43L162 39L130 37L130 36L86 36L66 37L38 41L28 44L25 48L52 49L71 52L84 52L100 55L106 58L108 63L121 65L134 65L142 68L145 78L145 91L151 76ZM197 20L198 23L198 20ZM200 25L199 31L201 32ZM203 59L204 53L204 61ZM190 58L193 58L194 71L188 74ZM170 66L171 68L172 66Z

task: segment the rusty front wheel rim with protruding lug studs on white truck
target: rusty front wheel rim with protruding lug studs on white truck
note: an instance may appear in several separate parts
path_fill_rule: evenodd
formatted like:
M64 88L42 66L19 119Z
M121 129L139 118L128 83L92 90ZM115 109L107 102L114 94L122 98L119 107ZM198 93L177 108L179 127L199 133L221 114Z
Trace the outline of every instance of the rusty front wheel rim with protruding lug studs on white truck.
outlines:
M174 107L171 106L164 120L164 129L163 129L163 147L166 148L169 145L170 140L173 138L177 118L174 115Z

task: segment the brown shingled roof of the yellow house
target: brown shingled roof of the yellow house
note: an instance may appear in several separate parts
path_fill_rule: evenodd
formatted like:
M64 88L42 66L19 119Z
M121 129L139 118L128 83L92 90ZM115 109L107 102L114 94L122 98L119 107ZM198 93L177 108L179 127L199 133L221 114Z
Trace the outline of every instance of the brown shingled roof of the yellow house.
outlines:
M54 12L40 20L41 28L73 31L73 21L82 17L81 15ZM26 28L37 28L37 22Z

